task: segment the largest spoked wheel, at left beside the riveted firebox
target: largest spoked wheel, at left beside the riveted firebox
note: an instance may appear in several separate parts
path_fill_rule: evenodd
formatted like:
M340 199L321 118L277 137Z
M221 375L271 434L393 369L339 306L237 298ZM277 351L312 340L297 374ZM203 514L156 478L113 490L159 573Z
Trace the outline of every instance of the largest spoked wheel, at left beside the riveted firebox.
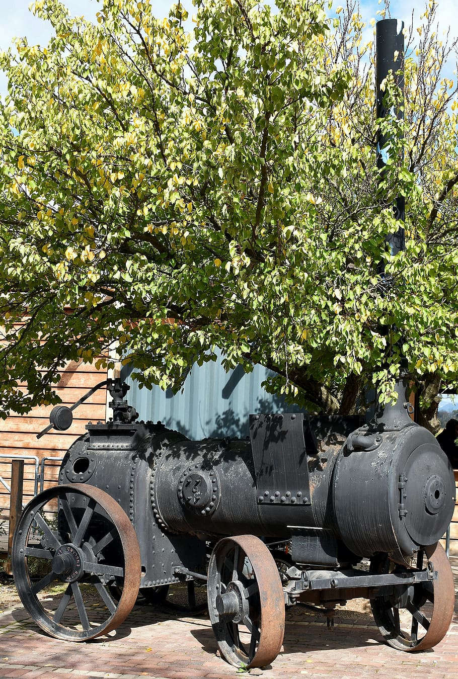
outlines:
M92 485L58 485L33 498L14 534L12 566L24 608L65 641L116 629L139 591L135 530L116 500ZM113 585L122 586L118 601Z

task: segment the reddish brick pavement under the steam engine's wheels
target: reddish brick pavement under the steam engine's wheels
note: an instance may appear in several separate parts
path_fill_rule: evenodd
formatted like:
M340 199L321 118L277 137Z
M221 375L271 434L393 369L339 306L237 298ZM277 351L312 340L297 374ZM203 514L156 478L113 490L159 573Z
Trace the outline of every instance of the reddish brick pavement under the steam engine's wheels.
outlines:
M455 592L458 589L458 559ZM372 618L355 612L333 630L301 614L287 617L285 642L270 667L251 671L263 679L458 679L458 606L448 634L434 650L401 653L385 646ZM113 636L86 644L52 639L23 608L0 615L0 677L219 679L240 676L216 655L209 619L168 617L137 607Z

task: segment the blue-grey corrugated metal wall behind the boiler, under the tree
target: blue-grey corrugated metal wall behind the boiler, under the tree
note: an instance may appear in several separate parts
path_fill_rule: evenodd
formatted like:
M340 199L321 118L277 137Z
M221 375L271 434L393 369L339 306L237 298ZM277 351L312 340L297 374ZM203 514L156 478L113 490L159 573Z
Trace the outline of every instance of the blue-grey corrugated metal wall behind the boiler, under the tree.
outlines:
M241 367L226 373L218 359L194 365L186 378L183 392L139 389L130 377L128 402L139 411L141 420L160 420L190 439L224 438L249 435L249 415L256 413L299 412L296 406L268 394L261 386L273 373L256 365L245 374Z

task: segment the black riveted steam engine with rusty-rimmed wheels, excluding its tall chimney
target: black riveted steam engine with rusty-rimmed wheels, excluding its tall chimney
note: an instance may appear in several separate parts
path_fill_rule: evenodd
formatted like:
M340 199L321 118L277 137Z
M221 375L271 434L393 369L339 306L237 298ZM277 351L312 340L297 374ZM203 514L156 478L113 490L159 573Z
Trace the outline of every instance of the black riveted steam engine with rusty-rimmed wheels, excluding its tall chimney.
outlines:
M219 648L234 665L272 661L285 604L298 602L321 604L331 617L336 604L366 596L383 636L400 650L429 648L444 636L454 590L436 543L453 514L455 482L436 439L408 416L401 384L398 403L364 426L357 418L254 415L249 440L203 441L137 422L123 400L126 386L116 380L109 388L113 420L86 427L63 460L59 485L32 501L32 517L24 510L15 538L18 590L43 629L92 638L119 624L139 587L158 593L201 581ZM66 428L67 411L54 409L53 426ZM53 531L37 515L56 498ZM69 583L84 628L76 638L63 603L57 613L30 603L27 557L38 553ZM107 606L102 623L78 607L75 588L84 582ZM442 613L437 622L436 609L421 636L414 612L424 605ZM407 633L399 608L412 612ZM251 629L245 646L234 631L241 626Z

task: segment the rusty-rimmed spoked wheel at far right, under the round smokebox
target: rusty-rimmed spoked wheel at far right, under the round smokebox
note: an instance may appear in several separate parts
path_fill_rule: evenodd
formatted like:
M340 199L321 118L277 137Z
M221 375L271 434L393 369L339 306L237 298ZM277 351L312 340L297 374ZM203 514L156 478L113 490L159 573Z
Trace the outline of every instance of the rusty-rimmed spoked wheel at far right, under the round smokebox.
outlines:
M371 564L372 572L393 572L395 566L386 557ZM433 648L446 635L453 617L455 588L453 572L440 545L419 551L417 570L436 570L438 578L410 585L391 596L379 596L370 602L374 620L389 646L412 651Z

